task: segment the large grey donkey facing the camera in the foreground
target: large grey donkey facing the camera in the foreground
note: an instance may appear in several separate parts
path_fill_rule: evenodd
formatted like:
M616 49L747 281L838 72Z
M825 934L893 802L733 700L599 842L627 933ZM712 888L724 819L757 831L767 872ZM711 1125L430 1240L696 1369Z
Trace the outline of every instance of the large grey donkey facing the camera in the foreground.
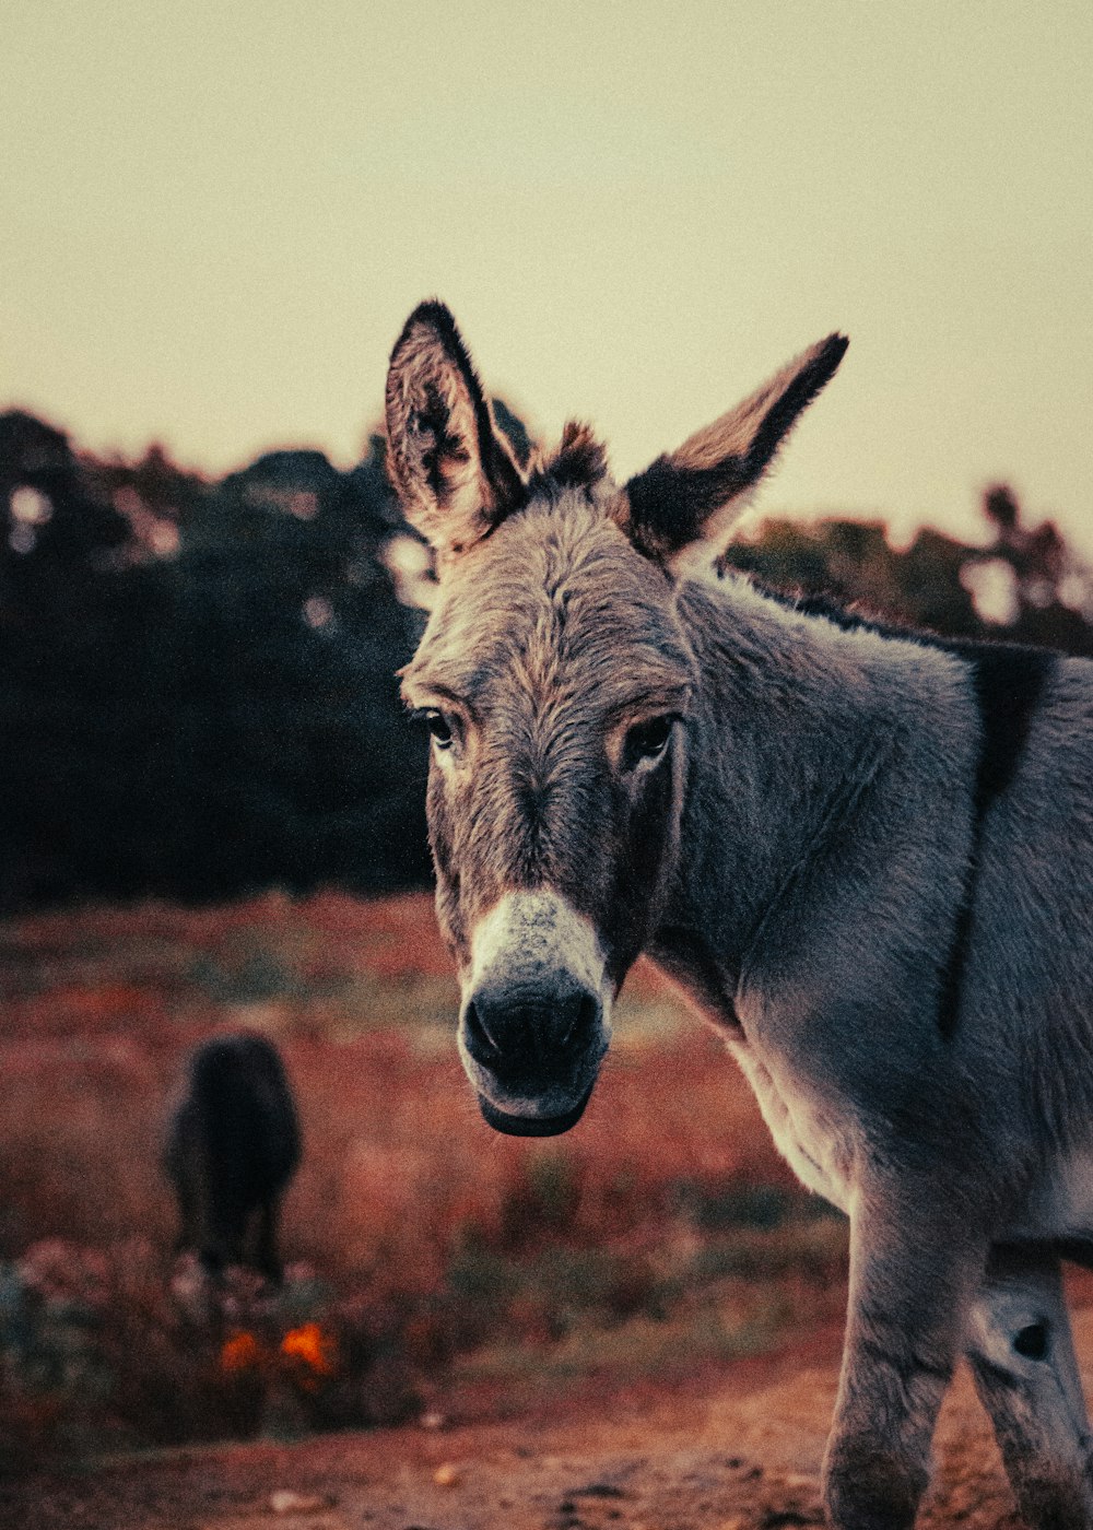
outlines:
M824 1493L902 1530L964 1353L1021 1512L1093 1524L1059 1256L1093 1250L1093 664L778 598L729 529L831 335L617 487L583 425L517 467L441 303L387 378L436 555L403 692L490 1126L571 1128L640 952L850 1216Z

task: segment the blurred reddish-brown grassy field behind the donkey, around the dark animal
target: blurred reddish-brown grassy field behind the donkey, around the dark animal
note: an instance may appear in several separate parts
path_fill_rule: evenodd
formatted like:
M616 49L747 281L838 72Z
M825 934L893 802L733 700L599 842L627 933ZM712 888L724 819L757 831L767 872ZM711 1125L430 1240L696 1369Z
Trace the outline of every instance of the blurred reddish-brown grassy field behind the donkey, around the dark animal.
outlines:
M839 1320L842 1226L648 968L585 1120L548 1143L484 1126L423 897L26 918L0 981L8 1464L504 1417ZM234 1027L282 1048L305 1161L285 1290L239 1278L210 1305L173 1259L159 1140L185 1053Z

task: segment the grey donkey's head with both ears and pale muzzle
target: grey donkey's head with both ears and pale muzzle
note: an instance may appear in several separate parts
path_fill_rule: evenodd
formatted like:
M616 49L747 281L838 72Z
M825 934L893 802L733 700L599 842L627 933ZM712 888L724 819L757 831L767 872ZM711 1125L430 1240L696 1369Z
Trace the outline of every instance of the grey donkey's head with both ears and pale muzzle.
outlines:
M442 304L395 346L389 468L439 577L403 692L432 733L459 1051L499 1131L553 1135L588 1103L678 855L697 676L675 569L723 551L845 346L814 346L622 490L577 425L516 464Z

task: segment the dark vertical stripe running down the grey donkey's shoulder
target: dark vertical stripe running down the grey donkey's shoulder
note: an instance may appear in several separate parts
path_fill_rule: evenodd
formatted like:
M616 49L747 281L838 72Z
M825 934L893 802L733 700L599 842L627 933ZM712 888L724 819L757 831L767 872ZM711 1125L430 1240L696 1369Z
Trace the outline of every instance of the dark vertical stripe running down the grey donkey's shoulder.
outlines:
M980 711L980 754L972 797L972 846L964 872L964 895L952 926L949 958L941 975L937 1024L949 1040L960 1019L960 990L967 961L975 907L975 883L986 817L1013 780L1029 737L1032 715L1055 669L1058 655L1050 649L1021 647L1016 643L946 643L972 670L975 702Z

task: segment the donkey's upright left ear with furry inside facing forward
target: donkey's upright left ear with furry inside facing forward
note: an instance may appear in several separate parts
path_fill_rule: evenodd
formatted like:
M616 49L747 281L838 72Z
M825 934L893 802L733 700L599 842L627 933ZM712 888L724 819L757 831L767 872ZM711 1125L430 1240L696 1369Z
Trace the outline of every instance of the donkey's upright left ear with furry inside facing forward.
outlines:
M444 303L415 308L390 353L387 471L441 565L524 502L524 477Z

